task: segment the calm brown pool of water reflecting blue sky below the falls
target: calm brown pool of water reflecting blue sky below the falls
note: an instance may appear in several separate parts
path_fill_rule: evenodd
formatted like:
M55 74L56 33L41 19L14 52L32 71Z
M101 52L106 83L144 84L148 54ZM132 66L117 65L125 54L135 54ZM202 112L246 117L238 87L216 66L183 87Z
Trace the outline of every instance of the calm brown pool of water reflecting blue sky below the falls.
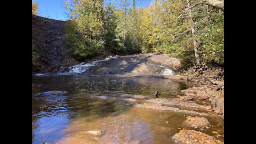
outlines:
M159 89L164 98L187 88L170 79L46 75L33 77L32 87L33 143L172 143L171 136L185 120L184 114L125 107L125 101L93 99L85 94L152 95ZM160 115L169 116L161 119ZM86 133L92 130L102 130L102 137Z

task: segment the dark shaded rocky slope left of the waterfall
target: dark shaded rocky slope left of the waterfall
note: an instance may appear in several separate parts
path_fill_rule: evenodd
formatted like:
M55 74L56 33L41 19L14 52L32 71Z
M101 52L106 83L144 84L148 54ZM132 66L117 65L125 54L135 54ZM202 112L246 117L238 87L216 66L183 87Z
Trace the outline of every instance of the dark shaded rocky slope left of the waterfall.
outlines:
M54 72L77 62L68 54L65 22L32 15L33 73Z

